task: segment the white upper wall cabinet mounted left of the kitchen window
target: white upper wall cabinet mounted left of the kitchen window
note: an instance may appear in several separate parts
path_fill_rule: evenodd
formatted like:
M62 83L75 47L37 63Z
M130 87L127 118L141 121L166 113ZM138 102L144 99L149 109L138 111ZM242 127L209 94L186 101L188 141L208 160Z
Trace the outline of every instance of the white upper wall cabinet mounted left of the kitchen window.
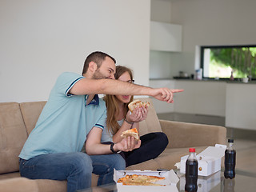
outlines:
M150 50L182 51L182 26L150 22Z

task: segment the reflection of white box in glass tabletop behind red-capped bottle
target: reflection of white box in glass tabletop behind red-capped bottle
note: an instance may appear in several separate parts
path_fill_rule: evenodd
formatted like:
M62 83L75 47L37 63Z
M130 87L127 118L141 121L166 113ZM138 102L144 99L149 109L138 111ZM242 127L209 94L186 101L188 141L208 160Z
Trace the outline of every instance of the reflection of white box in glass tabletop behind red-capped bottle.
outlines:
M221 171L210 176L198 176L198 192L210 191L221 182ZM185 190L186 178L185 174L180 177L179 189Z

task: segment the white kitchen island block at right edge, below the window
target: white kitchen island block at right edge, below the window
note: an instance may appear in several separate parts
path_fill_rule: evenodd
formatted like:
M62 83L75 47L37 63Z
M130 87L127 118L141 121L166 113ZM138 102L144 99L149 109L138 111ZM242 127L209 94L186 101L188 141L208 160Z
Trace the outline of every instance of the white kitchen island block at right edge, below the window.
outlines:
M256 130L256 84L227 83L225 126Z

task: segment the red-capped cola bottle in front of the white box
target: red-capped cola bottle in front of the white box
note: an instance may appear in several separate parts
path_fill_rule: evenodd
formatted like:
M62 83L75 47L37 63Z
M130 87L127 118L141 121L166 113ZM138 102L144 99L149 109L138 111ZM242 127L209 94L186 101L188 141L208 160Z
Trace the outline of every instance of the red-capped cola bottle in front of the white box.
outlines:
M190 148L190 155L186 160L186 192L194 192L198 190L198 159L195 149Z

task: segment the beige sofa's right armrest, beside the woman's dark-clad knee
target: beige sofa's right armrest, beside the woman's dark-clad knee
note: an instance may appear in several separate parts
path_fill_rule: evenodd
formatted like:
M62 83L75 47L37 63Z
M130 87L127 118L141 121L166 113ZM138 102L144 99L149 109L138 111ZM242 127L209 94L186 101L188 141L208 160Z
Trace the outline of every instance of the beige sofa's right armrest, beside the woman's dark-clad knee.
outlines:
M215 146L226 144L226 127L159 120L162 132L169 138L167 148Z

